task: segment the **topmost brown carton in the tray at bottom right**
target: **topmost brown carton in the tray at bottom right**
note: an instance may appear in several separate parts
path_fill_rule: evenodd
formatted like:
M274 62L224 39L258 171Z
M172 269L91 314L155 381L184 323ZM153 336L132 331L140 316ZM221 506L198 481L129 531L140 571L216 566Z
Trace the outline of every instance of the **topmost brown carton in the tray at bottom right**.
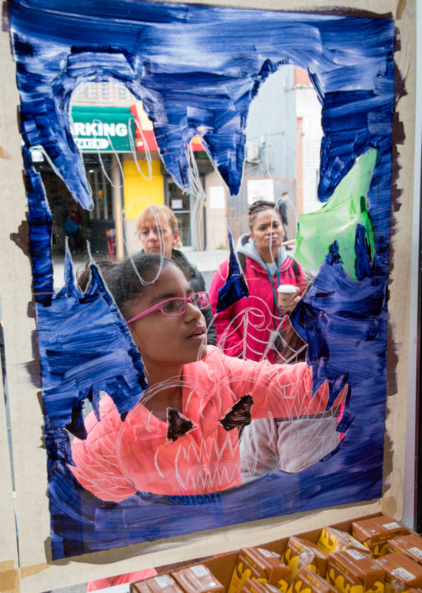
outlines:
M352 523L353 537L367 547L374 558L388 554L388 540L405 533L402 525L385 515Z

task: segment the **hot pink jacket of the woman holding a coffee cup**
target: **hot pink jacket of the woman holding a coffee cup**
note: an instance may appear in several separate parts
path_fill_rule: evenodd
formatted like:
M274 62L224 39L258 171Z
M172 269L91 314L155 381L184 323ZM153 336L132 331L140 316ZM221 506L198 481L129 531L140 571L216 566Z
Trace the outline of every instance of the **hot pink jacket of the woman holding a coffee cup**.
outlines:
M249 297L243 297L225 311L215 317L217 341L228 356L241 356L249 360L267 358L276 363L275 351L271 348L271 337L279 334L281 316L274 301L274 292L278 287L276 272L271 276L272 287L265 263L258 254L249 235L242 235L238 240L236 251L245 256L246 284ZM281 284L305 286L302 268L280 247L277 256L279 279ZM295 275L295 268L298 271ZM210 285L210 301L212 313L216 313L218 291L226 282L229 260L223 261L215 273ZM246 323L246 326L245 326ZM289 327L288 318L282 325L284 330Z

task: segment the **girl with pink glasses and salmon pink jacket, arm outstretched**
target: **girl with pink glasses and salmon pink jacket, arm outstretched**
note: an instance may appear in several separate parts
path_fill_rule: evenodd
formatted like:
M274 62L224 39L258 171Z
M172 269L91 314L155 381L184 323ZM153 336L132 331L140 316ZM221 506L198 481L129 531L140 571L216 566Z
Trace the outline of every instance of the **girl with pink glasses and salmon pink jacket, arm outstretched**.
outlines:
M124 422L104 396L101 421L91 412L87 439L72 443L76 467L70 469L97 497L120 501L140 490L196 495L238 486L238 428L251 418L326 410L328 386L311 399L306 363L241 360L207 346L201 313L207 294L193 294L172 261L136 254L101 269L139 348L149 388ZM344 402L346 391L334 406Z

